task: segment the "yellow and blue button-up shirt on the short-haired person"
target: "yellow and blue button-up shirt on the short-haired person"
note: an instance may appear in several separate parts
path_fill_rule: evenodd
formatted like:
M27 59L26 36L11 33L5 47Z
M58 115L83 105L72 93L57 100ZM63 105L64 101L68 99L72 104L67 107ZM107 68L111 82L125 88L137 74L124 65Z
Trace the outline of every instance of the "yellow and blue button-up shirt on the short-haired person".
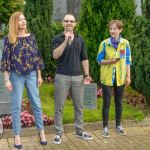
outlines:
M110 38L101 42L97 61L100 64L102 60L120 58L116 64L102 64L100 66L100 81L107 86L113 86L116 77L117 86L125 84L126 65L131 65L131 50L129 42L120 38L117 49L114 48Z

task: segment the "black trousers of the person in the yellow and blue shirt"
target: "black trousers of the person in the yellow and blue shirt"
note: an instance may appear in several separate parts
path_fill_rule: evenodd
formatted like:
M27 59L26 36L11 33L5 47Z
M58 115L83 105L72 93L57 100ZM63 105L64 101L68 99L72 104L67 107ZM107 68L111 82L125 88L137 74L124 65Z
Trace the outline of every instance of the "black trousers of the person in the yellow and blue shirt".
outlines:
M121 123L122 97L123 97L124 85L117 86L116 82L115 82L114 86L107 86L107 85L102 84L102 90L103 90L103 108L102 108L103 127L108 126L108 116L109 116L109 107L110 107L112 89L114 89L116 126L119 126Z

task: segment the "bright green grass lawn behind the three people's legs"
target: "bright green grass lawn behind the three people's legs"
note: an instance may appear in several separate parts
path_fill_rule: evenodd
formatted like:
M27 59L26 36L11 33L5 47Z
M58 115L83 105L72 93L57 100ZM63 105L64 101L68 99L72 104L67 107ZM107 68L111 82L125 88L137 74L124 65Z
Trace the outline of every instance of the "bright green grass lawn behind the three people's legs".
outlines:
M26 93L25 93L25 96ZM43 113L53 117L54 116L54 86L53 84L44 83L40 87L40 98L42 102ZM114 120L115 111L114 111L114 102L112 98L109 120ZM123 104L123 116L122 119L135 119L142 120L144 118L144 113L139 111L137 108ZM94 122L102 120L102 98L97 100L97 109L84 109L84 122ZM64 106L64 123L73 123L74 122L74 110L72 100L67 99Z

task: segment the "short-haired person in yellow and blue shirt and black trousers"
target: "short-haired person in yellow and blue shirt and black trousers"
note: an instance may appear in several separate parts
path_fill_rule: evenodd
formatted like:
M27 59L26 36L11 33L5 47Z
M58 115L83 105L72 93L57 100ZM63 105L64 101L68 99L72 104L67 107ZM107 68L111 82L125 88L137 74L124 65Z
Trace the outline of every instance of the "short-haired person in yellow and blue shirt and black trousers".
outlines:
M123 23L121 20L111 20L108 24L110 38L101 42L97 61L101 65L100 80L103 90L103 137L109 137L108 116L112 88L114 89L116 132L126 135L121 126L122 96L124 85L129 85L131 51L129 42L121 37Z

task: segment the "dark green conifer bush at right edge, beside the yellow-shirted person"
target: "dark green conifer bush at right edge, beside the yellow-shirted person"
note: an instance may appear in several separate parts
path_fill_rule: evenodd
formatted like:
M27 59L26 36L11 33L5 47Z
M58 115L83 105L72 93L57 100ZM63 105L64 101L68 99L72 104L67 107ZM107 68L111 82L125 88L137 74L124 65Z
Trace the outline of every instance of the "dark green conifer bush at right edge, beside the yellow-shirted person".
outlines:
M136 17L133 25L130 40L133 50L132 86L143 94L150 104L150 20L144 16Z

